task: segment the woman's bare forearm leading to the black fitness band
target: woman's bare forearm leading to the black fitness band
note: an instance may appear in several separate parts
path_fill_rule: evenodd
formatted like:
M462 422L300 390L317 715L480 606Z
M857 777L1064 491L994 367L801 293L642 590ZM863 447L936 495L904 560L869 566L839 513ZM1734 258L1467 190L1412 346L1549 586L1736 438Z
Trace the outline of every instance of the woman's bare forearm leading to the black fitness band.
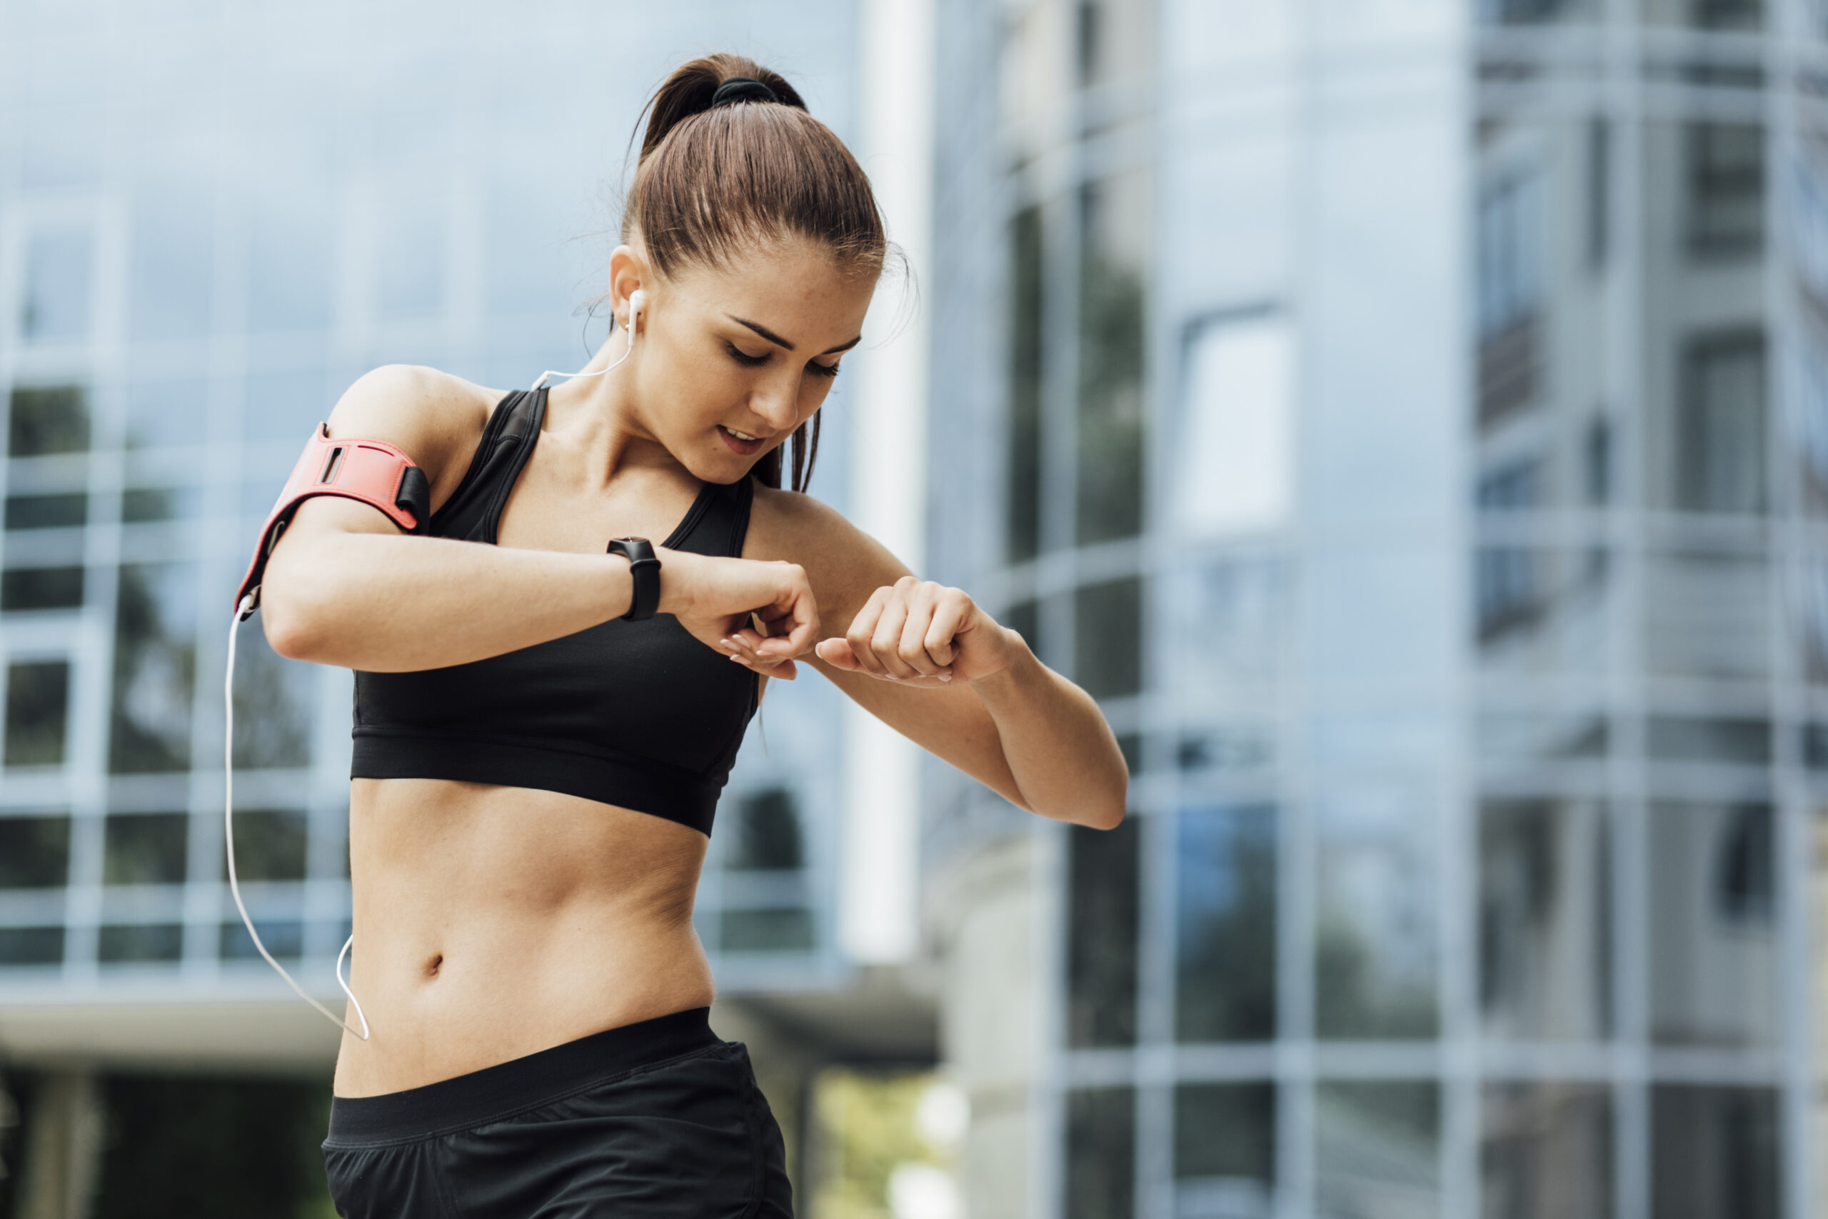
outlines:
M623 559L444 537L287 537L261 592L267 638L296 660L406 673L556 640L627 612Z

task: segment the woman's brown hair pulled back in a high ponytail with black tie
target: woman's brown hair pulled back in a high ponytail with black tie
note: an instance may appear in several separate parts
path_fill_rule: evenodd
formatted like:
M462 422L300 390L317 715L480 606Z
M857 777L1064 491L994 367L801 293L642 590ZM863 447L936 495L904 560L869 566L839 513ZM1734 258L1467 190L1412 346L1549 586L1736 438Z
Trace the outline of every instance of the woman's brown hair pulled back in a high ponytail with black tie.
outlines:
M735 79L762 82L775 101L713 110L718 86ZM870 179L779 73L740 55L706 55L676 68L643 117L622 238L638 234L662 276L691 263L729 265L788 236L824 245L857 274L881 274L888 239ZM781 486L784 448L755 464L764 486ZM793 490L802 492L819 455L817 413L793 429L792 448Z

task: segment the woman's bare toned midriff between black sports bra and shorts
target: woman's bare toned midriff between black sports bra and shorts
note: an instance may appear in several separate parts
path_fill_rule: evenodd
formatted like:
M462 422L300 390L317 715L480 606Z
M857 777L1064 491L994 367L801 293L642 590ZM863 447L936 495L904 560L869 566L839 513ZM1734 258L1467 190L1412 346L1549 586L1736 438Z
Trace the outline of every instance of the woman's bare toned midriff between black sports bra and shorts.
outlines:
M693 930L707 839L558 791L356 779L349 989L335 1095L435 1084L706 1007ZM355 1009L347 1022L360 1027Z

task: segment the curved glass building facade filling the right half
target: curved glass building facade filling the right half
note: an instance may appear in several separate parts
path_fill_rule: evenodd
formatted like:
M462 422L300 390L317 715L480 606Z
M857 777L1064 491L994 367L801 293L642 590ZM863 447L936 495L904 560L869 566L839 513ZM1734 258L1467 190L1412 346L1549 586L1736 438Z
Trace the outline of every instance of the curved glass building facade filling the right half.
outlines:
M940 7L934 554L1133 768L934 779L1027 1214L1824 1214L1821 7Z

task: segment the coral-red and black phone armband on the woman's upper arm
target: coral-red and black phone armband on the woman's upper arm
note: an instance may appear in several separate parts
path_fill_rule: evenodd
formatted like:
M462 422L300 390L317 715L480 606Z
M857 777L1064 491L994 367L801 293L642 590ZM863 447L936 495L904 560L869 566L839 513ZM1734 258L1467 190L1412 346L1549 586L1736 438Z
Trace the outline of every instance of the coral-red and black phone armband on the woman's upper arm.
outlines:
M424 534L431 519L431 482L411 457L386 440L333 440L329 424L318 424L292 466L292 477L267 514L254 561L236 588L234 601L241 618L260 607L260 578L267 570L267 556L292 523L298 504L313 495L360 499L386 512L408 534Z

